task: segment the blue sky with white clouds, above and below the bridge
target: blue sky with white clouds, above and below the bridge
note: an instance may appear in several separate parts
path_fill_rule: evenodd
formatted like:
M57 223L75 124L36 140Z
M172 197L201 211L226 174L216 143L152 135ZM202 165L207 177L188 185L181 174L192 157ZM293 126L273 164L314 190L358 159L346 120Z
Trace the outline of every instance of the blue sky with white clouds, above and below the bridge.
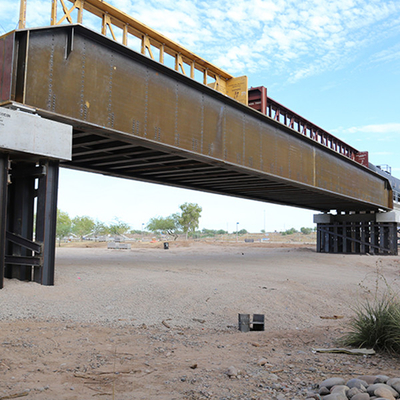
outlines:
M398 0L108 0L360 151L400 178ZM69 4L69 2L67 1ZM59 6L61 8L61 6ZM0 0L0 35L19 0ZM28 0L27 26L49 25L50 0ZM100 20L84 25L100 30ZM200 229L250 232L313 226L314 211L61 169L59 209L142 229L199 204Z

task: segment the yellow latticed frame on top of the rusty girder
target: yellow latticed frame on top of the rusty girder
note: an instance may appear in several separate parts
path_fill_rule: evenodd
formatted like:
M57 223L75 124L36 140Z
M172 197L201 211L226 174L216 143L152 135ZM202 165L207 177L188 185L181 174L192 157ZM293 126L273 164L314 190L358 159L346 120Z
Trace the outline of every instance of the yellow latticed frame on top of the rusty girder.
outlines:
M59 3L61 9L58 7ZM72 3L71 7L67 6L69 3ZM153 60L157 59L161 64L165 64L167 57L171 57L176 71L192 79L198 79L196 72L199 72L205 85L247 104L246 76L235 78L103 0L69 0L69 3L64 0L52 0L51 25L65 22L72 24L74 17L77 23L82 24L85 12L95 15L101 18L103 35L109 34L113 40L131 48L139 39L140 43L136 44L140 44L138 47L142 54Z

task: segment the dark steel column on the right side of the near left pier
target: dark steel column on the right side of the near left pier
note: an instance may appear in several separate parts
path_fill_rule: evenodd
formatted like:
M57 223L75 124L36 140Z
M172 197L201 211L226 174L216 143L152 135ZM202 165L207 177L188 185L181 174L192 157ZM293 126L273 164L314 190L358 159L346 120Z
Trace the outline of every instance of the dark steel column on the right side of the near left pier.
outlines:
M42 285L54 285L59 162L46 161L43 165L46 173L39 178L36 216L36 241L42 243L42 263L35 268L34 279Z

